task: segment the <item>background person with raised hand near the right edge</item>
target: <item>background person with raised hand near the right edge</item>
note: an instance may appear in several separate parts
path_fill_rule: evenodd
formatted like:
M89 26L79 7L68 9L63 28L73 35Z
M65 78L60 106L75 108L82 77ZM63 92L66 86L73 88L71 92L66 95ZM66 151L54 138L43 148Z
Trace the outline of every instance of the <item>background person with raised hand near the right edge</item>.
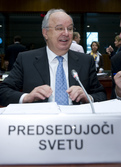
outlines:
M119 35L115 37L114 44L115 47L118 48L116 52L114 51L111 45L108 48L106 48L106 52L109 54L109 58L112 58L114 55L121 51L121 37Z

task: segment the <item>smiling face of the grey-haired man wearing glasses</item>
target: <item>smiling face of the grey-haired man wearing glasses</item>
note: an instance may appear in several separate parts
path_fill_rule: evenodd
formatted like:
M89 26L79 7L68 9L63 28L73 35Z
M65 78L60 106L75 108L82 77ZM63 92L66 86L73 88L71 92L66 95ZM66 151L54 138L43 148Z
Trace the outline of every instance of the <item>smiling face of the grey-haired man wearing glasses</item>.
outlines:
M72 42L72 19L64 12L51 14L49 28L43 30L43 35L51 51L57 55L64 55Z

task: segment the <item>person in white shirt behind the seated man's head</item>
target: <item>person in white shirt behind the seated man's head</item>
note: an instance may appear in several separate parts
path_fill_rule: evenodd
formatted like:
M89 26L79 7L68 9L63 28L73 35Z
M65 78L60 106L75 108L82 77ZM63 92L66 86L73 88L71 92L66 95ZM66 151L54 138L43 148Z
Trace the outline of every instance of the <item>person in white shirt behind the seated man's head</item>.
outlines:
M81 40L80 34L78 32L74 32L73 33L73 41L72 41L72 44L70 46L70 49L77 51L77 52L84 53L83 47L81 45L79 45L80 40Z

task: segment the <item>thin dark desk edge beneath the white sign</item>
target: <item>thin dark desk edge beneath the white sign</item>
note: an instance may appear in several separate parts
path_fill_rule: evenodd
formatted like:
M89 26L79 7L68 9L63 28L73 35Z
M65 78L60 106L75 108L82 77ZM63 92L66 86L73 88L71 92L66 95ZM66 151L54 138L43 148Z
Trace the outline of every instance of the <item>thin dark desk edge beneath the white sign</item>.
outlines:
M0 165L0 167L13 167L13 165ZM121 167L120 164L70 164L70 165L14 165L14 167Z

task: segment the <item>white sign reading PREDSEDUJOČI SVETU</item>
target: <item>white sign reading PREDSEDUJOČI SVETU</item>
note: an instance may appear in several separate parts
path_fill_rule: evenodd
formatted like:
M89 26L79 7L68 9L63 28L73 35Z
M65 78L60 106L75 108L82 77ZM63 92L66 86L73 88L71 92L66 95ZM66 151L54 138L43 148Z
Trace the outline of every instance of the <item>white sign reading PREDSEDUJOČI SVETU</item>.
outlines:
M121 162L121 114L0 115L0 164Z

